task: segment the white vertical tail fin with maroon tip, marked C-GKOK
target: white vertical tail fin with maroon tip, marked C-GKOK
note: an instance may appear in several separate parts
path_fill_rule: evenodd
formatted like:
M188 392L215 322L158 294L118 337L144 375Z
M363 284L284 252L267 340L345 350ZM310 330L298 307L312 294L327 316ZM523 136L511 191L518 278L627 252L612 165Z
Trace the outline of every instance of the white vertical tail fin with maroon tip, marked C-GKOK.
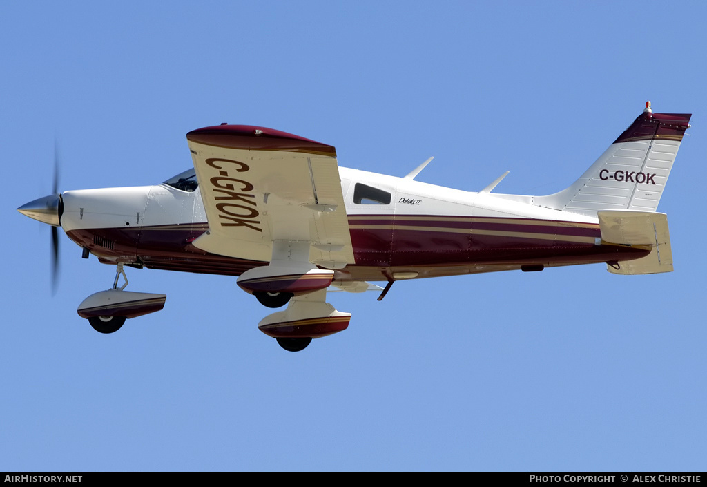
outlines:
M690 114L653 113L650 102L633 124L573 185L533 204L580 214L600 210L655 212Z

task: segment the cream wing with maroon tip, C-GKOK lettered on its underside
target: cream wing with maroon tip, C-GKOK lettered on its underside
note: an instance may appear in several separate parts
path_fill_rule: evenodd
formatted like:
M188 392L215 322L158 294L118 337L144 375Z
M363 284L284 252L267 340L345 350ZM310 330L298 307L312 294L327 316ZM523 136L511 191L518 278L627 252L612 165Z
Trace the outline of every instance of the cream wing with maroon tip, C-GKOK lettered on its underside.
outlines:
M354 263L334 147L246 125L187 134L209 231L194 246L269 261L274 241L310 243L310 262Z

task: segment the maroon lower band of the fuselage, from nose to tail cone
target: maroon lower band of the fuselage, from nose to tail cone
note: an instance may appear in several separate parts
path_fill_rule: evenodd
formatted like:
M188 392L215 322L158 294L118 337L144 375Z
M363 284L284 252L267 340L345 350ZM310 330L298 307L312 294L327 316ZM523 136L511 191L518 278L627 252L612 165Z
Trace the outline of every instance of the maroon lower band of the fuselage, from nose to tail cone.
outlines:
M648 254L641 248L595 245L598 224L490 217L351 215L356 265L391 266L592 263L631 260ZM67 232L103 262L122 260L148 268L238 276L267 263L217 256L194 247L205 223L84 229ZM114 242L105 248L95 235ZM355 266L349 265L348 268Z

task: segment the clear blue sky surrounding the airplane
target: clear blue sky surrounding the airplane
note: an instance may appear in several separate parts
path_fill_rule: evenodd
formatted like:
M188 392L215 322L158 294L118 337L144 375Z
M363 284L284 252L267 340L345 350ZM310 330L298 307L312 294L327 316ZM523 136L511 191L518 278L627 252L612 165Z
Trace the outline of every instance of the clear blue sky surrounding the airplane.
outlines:
M0 3L3 470L703 470L701 2ZM659 211L675 272L604 265L337 293L286 353L230 277L127 270L159 313L95 333L115 269L16 207L159 183L185 134L263 125L341 166L502 193L573 182L643 110L693 113Z

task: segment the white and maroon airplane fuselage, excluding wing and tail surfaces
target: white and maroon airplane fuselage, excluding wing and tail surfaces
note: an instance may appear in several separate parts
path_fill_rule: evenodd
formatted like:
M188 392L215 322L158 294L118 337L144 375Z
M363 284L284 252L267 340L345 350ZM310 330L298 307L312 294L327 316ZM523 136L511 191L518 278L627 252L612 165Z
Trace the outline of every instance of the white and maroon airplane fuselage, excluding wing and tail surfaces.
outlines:
M538 265L631 260L650 252L601 243L597 217L493 193L343 167L339 171L356 263L336 270L335 281L387 281L395 273L433 277L526 265L535 270ZM380 190L383 202L354 203L357 184ZM66 191L62 198L66 234L103 263L222 275L267 265L214 255L192 244L209 229L198 187L192 192L167 184L78 190Z

